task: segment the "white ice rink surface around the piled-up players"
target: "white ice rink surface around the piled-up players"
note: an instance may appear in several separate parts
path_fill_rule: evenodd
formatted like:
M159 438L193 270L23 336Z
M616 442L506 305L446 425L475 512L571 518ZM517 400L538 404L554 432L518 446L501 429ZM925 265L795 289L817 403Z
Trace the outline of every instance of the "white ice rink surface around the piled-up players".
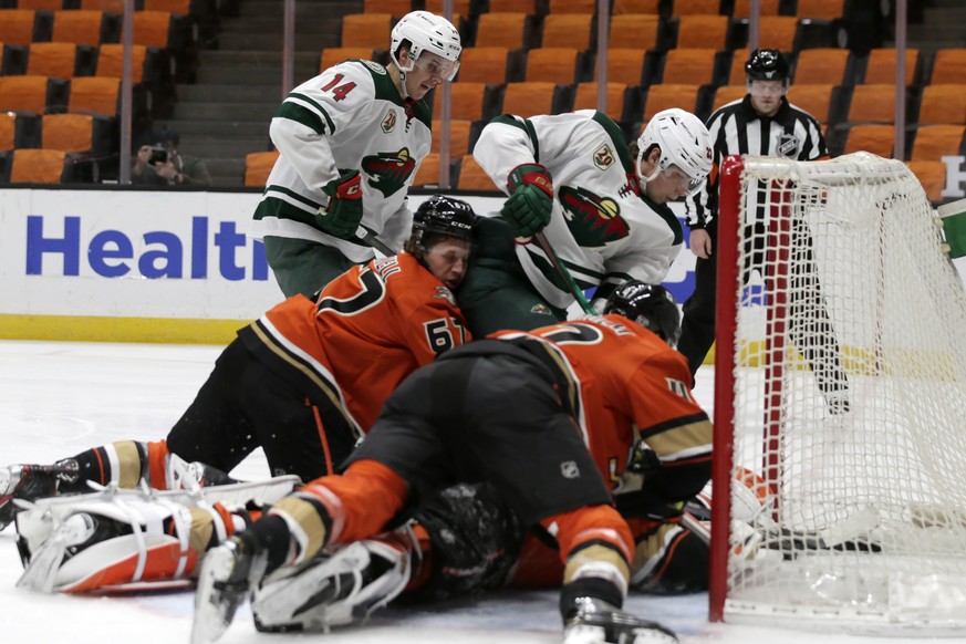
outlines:
M51 463L120 439L156 440L191 402L221 349L0 341L0 465ZM697 399L711 412L713 368L698 374ZM233 472L262 478L260 454ZM21 574L12 528L0 532L0 636L39 644L188 642L190 592L125 598L44 595L14 588ZM662 621L682 642L715 644L879 644L907 637L709 624L707 596L629 598L627 610ZM560 642L557 593L508 592L454 604L395 609L370 624L329 634L258 633L247 606L226 643L550 644ZM966 644L962 638L943 642Z

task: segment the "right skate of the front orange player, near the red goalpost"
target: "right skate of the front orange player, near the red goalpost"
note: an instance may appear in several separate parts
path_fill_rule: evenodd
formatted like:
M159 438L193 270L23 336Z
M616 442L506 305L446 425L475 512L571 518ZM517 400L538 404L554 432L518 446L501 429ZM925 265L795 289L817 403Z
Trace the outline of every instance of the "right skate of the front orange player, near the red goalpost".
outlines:
M564 620L563 644L674 644L666 626L640 620L595 598L578 598Z

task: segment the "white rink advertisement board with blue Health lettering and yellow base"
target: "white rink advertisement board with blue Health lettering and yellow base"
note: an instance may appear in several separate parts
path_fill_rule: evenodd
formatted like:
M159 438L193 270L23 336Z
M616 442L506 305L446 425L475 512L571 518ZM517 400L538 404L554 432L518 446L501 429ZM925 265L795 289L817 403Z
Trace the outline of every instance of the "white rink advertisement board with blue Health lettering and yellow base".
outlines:
M220 344L282 300L258 193L0 189L0 336ZM426 198L411 197L416 208ZM477 212L498 197L467 196ZM689 294L683 251L666 285Z

